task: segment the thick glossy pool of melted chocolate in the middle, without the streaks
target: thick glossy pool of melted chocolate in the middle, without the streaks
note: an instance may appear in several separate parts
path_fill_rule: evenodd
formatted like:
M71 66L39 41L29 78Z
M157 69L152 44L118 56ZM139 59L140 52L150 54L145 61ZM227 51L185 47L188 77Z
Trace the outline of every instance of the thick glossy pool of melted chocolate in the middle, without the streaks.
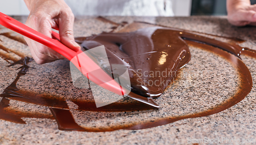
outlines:
M190 60L188 46L179 32L160 27L102 33L88 37L81 45L84 49L104 45L111 65L127 66L132 91L151 98L159 97L176 71Z

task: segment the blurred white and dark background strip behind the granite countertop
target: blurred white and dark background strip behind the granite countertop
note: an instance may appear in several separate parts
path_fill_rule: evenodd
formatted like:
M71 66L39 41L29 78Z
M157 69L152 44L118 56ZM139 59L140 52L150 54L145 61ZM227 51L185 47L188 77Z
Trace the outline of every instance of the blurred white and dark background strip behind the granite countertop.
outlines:
M226 15L225 0L64 0L75 15L190 16ZM251 0L256 4L256 0ZM23 0L0 0L0 11L28 15Z

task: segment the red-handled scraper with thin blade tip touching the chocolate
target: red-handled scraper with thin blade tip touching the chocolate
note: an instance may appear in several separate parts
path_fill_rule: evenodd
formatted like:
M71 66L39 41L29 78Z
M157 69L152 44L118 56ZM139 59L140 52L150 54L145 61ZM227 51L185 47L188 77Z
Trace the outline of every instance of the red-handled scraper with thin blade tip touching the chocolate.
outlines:
M155 108L159 108L159 106L152 100L152 98L145 98L133 92L127 92L124 88L120 86L113 78L111 78L106 72L98 66L90 57L88 57L85 53L81 50L75 52L69 49L67 46L59 42L59 34L52 31L53 37L56 39L47 37L29 27L24 25L22 22L19 22L13 19L10 16L7 16L0 12L0 24L4 27L11 29L19 34L22 34L30 39L33 39L41 44L48 46L50 49L58 52L62 56L66 57L70 60L81 72L84 76L88 78L88 74L97 70L98 74L94 75L93 73L90 74L90 79L95 84L110 90L118 95L127 94L130 98L137 100L139 102L145 103ZM79 56L79 57L78 57ZM86 63L80 63L86 62ZM126 93L125 93L126 92Z

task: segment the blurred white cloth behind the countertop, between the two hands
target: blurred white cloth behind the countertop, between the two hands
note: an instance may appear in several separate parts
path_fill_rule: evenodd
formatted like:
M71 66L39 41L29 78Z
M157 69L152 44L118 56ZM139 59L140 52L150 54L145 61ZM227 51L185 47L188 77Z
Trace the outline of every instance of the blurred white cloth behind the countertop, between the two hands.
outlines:
M75 15L174 16L170 0L65 0L65 2Z

